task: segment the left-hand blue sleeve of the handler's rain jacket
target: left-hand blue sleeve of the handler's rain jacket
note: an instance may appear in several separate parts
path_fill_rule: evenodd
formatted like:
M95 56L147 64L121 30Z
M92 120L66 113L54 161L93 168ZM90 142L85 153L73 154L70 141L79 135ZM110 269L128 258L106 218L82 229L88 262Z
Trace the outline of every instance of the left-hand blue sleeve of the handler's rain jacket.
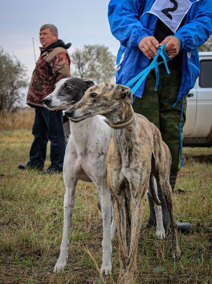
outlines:
M111 32L120 44L131 49L138 49L144 36L151 33L140 23L138 11L144 0L111 0L108 6L108 19Z

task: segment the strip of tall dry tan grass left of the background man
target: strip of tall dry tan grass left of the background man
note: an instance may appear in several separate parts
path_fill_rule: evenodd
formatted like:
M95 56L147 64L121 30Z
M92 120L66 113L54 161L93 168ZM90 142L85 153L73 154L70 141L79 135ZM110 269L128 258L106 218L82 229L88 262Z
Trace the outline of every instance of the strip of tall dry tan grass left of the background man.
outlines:
M22 107L15 113L1 112L0 130L32 129L34 116L32 107Z

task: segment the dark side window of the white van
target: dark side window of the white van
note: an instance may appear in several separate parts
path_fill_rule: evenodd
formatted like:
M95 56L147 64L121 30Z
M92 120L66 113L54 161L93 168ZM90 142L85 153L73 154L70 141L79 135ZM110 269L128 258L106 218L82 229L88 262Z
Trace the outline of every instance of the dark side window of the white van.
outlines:
M201 88L212 88L212 60L200 60L199 86Z

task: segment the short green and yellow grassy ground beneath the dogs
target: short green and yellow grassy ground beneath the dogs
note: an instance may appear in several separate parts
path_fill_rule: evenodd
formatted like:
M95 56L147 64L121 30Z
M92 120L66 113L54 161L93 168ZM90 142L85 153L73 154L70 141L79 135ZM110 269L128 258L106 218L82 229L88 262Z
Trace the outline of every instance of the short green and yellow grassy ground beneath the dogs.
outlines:
M0 283L103 283L87 251L100 267L102 222L92 183L78 182L67 267L65 273L52 272L62 238L65 187L62 174L18 170L17 164L28 159L31 142L30 130L0 133ZM154 229L145 229L148 205L144 200L135 283L211 283L212 149L184 148L184 157L174 212L177 220L194 225L194 233L180 234L182 257L172 260L169 232L158 241ZM46 167L49 164L47 160ZM112 267L105 283L117 283L117 238Z

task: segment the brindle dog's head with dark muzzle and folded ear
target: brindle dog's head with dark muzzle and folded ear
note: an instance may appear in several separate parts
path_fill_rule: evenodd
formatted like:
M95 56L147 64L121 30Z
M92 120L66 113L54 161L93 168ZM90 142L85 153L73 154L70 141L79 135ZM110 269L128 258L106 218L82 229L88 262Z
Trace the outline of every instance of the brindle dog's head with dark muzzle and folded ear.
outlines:
M102 114L107 118L124 112L132 104L130 88L114 83L102 83L90 87L82 100L65 111L72 120L82 119Z

